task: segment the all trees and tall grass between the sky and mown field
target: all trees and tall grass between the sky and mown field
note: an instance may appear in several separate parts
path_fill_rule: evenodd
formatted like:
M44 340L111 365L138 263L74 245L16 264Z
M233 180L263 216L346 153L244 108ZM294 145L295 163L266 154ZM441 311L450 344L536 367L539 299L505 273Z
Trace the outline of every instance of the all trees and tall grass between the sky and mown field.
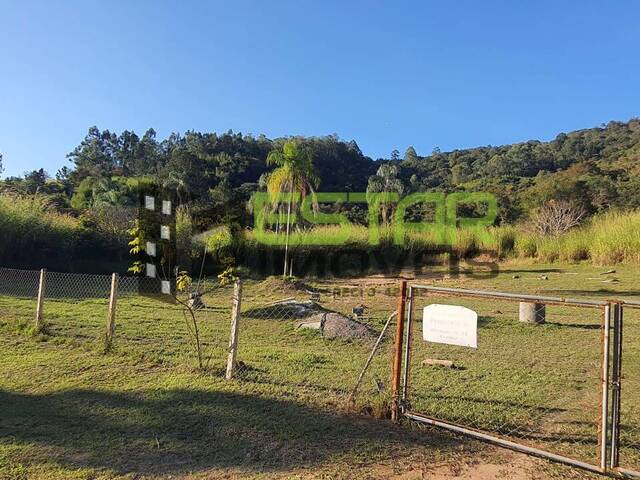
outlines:
M239 245L259 249L247 231L253 226L250 198L273 183L272 172L278 167L269 165L267 157L290 140L231 131L189 131L161 140L152 129L138 136L92 127L68 154L71 168L60 169L55 178L40 169L0 181L4 233L0 263L46 265L67 251L63 255L67 268L82 268L71 258L73 252L98 248L107 252L103 258L124 265L137 188L151 182L172 190L187 206L193 233L224 224L230 231L244 232L237 235L236 253ZM561 133L550 142L532 140L451 152L436 149L426 156L408 147L403 157L394 150L389 158L377 160L364 155L355 141L336 136L293 141L312 162L309 173L318 191L494 194L499 210L492 235L497 241L488 245L474 238L473 232L462 231L453 245L462 256L489 247L502 258L638 262L634 235L638 215L633 212L640 207L639 119ZM286 185L281 183L285 191ZM549 201L570 202L580 209L582 225L560 235L523 228ZM355 229L359 239L350 242L366 243L365 206L339 203L320 208L343 212L362 225ZM473 208L470 212L482 213ZM384 225L387 217L392 218L393 207L383 206L381 214ZM428 208L408 212L414 220L431 214ZM386 249L389 243L383 234L377 248ZM405 248L433 243L428 234L414 235Z

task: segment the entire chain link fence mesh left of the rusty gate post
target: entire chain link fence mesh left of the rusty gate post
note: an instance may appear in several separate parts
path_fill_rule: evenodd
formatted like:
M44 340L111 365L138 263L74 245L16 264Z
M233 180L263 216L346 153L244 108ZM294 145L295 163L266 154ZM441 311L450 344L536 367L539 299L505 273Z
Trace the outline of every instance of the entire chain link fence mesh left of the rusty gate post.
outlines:
M40 271L0 268L0 321L33 324ZM111 275L45 272L43 322L57 342L103 348ZM144 277L120 276L113 346L151 365L201 366L225 375L234 286L205 279L178 301L140 294ZM245 281L231 377L273 394L346 405L384 415L390 399L397 285L268 278ZM378 341L379 339L379 341ZM377 343L374 355L371 351ZM369 356L358 391L351 395Z

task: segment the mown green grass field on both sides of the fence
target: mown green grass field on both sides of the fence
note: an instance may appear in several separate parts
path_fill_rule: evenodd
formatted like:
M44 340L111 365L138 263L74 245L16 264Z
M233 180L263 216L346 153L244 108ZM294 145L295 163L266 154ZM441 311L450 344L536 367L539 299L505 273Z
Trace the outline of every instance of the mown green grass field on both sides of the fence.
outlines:
M640 298L634 269L616 269L600 275L606 268L506 264L490 277L436 271L420 281ZM325 290L321 301L327 308L349 313L358 303L367 305L368 322L378 330L395 308L394 281L312 283ZM230 382L222 378L229 288L205 296L211 308L199 322L210 357L204 372L195 368L182 314L172 305L121 298L115 348L103 353L106 299L47 300L48 333L33 336L34 300L0 297L0 478L379 478L493 455L466 439L373 418L385 413L388 400L389 340L365 379L355 412L347 408L371 344L301 333L296 320L269 306L305 295L274 280L245 283L242 367ZM420 302L418 308L426 299ZM597 313L550 309L546 325L529 326L515 321L517 304L466 304L481 316L477 351L427 346L418 341L416 324L412 407L592 461ZM256 314L265 308L266 318ZM639 468L640 311L625 321L621 460ZM427 357L454 360L459 368L423 367ZM540 468L543 477L582 476Z

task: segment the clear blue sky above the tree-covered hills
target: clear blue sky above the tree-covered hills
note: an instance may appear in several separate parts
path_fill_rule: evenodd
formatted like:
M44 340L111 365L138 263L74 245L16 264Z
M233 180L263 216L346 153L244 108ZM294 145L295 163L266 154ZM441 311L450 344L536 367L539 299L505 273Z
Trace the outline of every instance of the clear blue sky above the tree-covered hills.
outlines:
M337 133L373 158L640 115L637 1L0 0L5 176L88 127Z

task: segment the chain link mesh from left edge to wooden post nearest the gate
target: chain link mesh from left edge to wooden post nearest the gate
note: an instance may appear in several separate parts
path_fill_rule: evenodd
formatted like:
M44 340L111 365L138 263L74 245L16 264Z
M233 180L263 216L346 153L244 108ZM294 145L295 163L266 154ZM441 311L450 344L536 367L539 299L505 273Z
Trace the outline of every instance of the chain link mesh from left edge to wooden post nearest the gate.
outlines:
M0 322L7 329L35 325L40 271L0 268ZM56 342L102 348L107 331L111 275L45 272L43 325ZM223 365L230 318L230 289L203 281L190 302L141 295L144 277L121 276L115 307L114 346L155 364ZM193 316L191 316L193 313ZM198 348L199 345L199 348ZM199 352L199 353L198 353Z

